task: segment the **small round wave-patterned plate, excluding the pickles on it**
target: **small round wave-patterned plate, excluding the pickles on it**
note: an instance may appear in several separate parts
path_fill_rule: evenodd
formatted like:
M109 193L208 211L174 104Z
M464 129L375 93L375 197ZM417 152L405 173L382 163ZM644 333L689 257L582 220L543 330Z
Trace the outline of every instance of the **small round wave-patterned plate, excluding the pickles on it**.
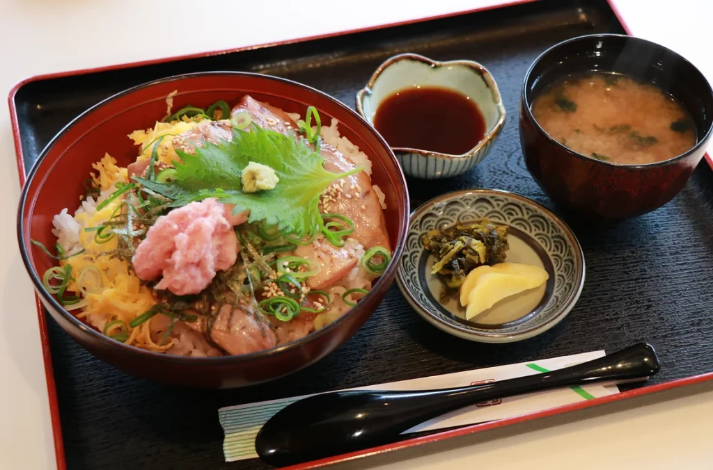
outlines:
M507 261L539 264L550 278L540 290L501 301L471 322L455 299L438 302L441 281L431 275L434 258L421 236L483 218L508 226ZM451 192L416 209L397 269L399 288L416 312L446 333L482 343L525 340L557 325L577 302L584 277L584 254L567 224L531 199L497 189Z

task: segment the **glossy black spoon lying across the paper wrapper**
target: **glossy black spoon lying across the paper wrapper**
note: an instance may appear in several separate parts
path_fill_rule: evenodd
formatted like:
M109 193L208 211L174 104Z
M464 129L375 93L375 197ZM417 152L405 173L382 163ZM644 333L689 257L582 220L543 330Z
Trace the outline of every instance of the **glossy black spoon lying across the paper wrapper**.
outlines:
M283 466L396 442L401 433L470 404L602 380L644 380L659 371L645 343L543 374L445 390L329 392L289 404L255 438L260 459Z

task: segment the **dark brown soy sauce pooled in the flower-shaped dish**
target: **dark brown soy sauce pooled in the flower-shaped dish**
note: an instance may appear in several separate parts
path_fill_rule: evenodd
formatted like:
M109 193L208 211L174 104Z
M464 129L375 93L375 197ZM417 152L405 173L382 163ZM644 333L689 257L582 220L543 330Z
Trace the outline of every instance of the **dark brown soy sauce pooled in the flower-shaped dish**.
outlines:
M446 88L406 88L386 98L374 127L391 147L461 155L483 140L483 113L465 95Z

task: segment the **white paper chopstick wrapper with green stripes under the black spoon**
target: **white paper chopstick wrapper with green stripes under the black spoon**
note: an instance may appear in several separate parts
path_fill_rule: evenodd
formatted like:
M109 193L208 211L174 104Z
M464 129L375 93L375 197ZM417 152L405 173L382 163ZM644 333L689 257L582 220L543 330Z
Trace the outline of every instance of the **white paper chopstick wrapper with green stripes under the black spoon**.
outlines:
M427 390L463 387L548 372L549 370L561 369L580 362L593 360L603 355L605 355L604 351L584 352L577 355L520 362L519 364L501 365L486 369L466 370L453 374L433 375L431 377L369 385L368 387L357 387L348 390ZM605 397L618 392L617 385L587 385L586 387L570 387L496 399L443 414L441 417L431 419L407 430L404 434L476 424L493 421L494 419L505 419L565 404ZM219 409L218 417L225 432L225 440L223 441L225 461L257 458L255 436L262 425L288 404L309 396L302 395L300 397L273 399L268 402L240 404L235 407Z

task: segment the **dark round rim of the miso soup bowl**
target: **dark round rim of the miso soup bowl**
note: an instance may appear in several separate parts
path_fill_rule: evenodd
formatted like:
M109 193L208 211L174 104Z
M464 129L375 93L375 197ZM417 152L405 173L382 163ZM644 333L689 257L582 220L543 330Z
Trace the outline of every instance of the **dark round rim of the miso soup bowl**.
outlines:
M685 152L683 152L680 155L676 155L675 157L669 158L667 160L662 160L660 162L626 164L626 163L617 163L617 162L607 162L605 160L597 160L594 157L589 157L588 155L583 155L579 152L575 152L574 150L570 149L570 147L567 147L563 143L559 142L558 140L556 140L552 136L550 136L548 134L548 132L546 132L543 129L543 127L540 126L540 123L535 119L535 116L533 115L532 109L530 108L530 105L529 105L530 103L528 103L526 85L528 83L528 80L530 79L530 75L532 75L535 66L537 66L538 63L540 63L540 61L542 61L543 58L545 58L545 56L547 56L549 53L552 53L553 51L556 51L558 48L565 46L569 43L575 43L575 42L579 42L579 41L587 41L587 40L591 40L591 39L595 39L595 38L602 38L602 39L622 38L625 41L644 43L649 46L654 46L655 48L659 48L661 51L672 53L674 56L677 56L677 58L679 58L679 60L681 60L684 63L687 63L689 66L691 66L691 68L694 70L694 72L698 73L698 75L700 75L700 77L703 79L704 83L706 83L708 85L708 90L707 90L708 95L710 95L712 97L712 101L713 101L713 88L711 87L711 84L707 80L705 75L703 75L703 73L699 70L699 68L694 66L693 63L691 63L691 61L689 61L687 58L685 58L681 54L677 53L676 51L672 51L670 48L662 46L659 43L655 43L653 41L649 41L649 40L643 39L643 38L638 38L636 36L629 36L627 34L616 34L616 33L585 34L584 36L577 36L576 38L570 38L565 41L561 41L560 43L556 43L554 46L550 46L543 53L541 53L539 56L537 56L537 58L535 58L533 63L530 64L528 71L525 72L525 78L523 79L523 85L520 89L520 103L522 103L522 106L520 106L520 109L524 111L525 115L527 115L527 117L528 117L528 120L530 120L530 122L533 123L536 130L538 130L543 135L545 135L545 137L547 137L548 140L550 140L550 143L554 143L555 145L560 147L561 150L566 150L567 152L570 153L570 155L580 158L581 160L585 160L587 162L596 162L598 164L602 164L602 165L605 165L608 167L626 169L626 170L630 170L630 171L635 171L637 169L665 167L669 164L678 162L679 160L684 160L686 157L689 157L689 155L692 155L692 153L697 152L697 150L699 150L700 147L707 145L708 139L709 139L711 133L713 132L713 124L710 125L707 132L698 139L698 141L696 142L696 144L693 147L689 148L689 150L686 150ZM684 107L684 109L685 109L685 107Z

